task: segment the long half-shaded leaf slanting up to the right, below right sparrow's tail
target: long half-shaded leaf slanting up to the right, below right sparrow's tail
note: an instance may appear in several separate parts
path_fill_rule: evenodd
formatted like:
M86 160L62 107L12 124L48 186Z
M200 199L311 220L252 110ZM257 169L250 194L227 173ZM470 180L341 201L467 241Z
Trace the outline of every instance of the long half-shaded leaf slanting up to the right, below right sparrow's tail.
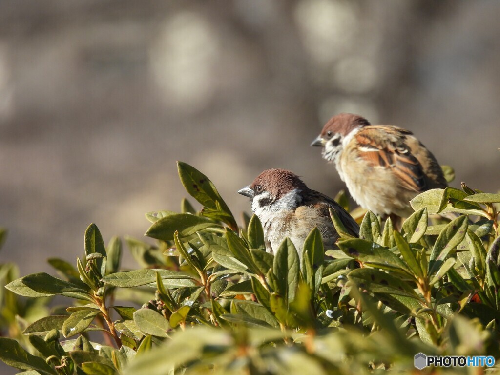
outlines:
M429 275L433 274L448 256L453 248L455 248L465 237L467 232L467 216L462 215L450 221L434 243L429 260Z

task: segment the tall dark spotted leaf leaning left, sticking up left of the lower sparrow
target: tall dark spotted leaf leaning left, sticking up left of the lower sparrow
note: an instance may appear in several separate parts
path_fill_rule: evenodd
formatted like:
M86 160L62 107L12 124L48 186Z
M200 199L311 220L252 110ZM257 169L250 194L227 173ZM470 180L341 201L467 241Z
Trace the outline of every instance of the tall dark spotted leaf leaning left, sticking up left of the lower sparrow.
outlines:
M224 221L231 229L238 227L229 207L207 176L182 161L177 161L177 169L186 191L203 205L203 215Z

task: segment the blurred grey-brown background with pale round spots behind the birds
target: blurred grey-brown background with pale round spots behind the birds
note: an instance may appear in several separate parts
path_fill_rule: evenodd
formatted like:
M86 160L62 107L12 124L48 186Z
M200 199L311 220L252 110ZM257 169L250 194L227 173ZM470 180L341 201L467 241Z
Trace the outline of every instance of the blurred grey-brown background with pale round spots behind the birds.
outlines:
M270 167L335 196L309 143L342 111L412 130L453 186L496 191L498 14L496 0L1 0L1 261L73 263L90 222L106 243L142 238L144 212L186 195L175 160L238 217L236 190Z

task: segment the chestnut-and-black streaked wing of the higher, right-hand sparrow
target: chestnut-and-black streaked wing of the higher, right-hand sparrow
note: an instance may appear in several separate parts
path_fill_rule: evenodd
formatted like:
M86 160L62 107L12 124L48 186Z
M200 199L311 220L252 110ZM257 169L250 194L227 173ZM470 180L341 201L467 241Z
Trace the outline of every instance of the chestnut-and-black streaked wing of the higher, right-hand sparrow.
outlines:
M354 138L359 157L373 167L390 168L403 187L421 192L427 188L425 174L404 142L406 135L411 132L396 126L372 125L362 128Z

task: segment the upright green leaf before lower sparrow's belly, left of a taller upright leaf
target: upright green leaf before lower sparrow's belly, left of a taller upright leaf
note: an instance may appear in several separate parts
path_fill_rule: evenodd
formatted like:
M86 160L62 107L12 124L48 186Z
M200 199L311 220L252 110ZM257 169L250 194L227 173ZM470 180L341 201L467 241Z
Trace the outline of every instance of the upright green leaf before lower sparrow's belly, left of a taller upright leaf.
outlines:
M279 245L272 263L272 271L276 276L278 293L286 305L295 298L300 277L300 260L293 242L286 237Z

